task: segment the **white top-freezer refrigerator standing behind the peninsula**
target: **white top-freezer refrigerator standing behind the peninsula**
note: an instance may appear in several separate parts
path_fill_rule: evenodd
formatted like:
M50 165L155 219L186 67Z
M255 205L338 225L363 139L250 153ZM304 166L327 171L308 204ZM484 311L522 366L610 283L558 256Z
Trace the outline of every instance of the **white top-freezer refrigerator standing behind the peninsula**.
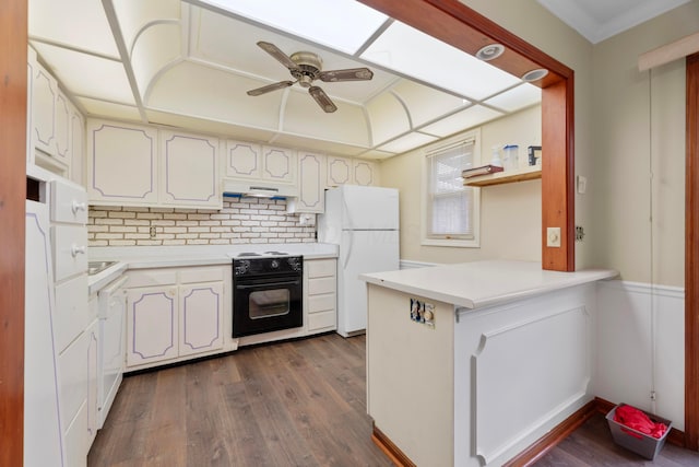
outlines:
M342 185L325 191L318 241L336 244L337 334L367 327L367 291L358 276L399 269L399 192L394 188Z

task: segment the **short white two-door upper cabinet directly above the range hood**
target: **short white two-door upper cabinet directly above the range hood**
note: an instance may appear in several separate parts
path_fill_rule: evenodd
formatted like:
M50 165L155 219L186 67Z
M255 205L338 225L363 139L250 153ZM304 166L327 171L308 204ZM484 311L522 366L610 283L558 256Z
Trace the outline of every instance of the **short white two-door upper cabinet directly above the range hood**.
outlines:
M296 183L296 151L245 141L226 141L226 177Z

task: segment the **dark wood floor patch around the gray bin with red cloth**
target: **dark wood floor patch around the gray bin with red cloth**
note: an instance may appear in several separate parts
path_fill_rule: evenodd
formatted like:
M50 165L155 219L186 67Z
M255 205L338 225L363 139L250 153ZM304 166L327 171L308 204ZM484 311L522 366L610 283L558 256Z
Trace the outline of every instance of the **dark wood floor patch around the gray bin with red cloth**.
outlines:
M665 443L653 462L614 443L607 421L595 413L560 444L548 452L536 467L663 466L697 467L699 453Z

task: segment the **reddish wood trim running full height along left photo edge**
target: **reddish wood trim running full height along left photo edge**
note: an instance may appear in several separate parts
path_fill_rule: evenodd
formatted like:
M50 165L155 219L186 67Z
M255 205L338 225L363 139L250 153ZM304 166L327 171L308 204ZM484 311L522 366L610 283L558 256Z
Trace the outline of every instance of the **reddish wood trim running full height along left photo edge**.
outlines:
M21 466L27 0L0 2L0 466Z

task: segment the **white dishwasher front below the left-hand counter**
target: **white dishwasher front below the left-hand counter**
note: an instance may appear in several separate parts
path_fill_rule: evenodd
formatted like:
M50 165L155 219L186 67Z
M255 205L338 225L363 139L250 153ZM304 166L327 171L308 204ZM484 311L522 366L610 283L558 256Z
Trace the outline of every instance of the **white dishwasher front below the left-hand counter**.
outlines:
M98 428L104 427L109 408L123 378L126 359L127 295L122 289L128 277L122 276L99 292L99 381Z

